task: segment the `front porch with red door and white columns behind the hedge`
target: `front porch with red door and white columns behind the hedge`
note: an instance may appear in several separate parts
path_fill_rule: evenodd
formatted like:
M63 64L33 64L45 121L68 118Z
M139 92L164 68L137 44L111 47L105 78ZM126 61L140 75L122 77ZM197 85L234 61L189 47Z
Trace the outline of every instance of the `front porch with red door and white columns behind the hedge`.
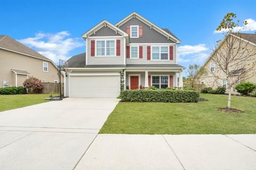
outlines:
M165 89L167 87L183 87L182 71L138 71L138 70L126 70L124 72L125 89L139 89L154 86L159 89Z

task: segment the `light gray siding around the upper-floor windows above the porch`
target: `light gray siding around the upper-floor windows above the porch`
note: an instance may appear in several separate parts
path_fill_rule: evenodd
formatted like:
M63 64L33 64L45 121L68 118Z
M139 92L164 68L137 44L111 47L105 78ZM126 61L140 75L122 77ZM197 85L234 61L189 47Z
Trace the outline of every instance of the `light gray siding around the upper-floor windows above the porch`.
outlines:
M157 45L157 44L156 44ZM143 56L139 59L126 58L126 64L176 64L176 46L173 46L173 60L170 61L151 61L147 60L147 46L146 44L141 45Z

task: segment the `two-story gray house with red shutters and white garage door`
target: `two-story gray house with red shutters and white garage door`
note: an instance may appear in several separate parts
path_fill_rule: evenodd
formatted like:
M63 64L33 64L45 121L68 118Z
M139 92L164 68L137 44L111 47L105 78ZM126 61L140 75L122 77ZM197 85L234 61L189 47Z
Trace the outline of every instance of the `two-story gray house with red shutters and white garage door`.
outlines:
M185 69L178 65L181 41L135 12L115 25L103 20L82 37L86 53L68 60L65 96L117 97L121 75L124 89L177 87Z

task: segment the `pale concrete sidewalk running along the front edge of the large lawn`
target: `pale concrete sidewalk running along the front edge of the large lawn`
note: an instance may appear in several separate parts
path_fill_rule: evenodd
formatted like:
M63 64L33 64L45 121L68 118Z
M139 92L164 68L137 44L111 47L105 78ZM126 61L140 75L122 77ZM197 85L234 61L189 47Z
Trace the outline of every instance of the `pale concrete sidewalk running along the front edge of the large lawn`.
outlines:
M256 134L99 134L75 168L256 169Z

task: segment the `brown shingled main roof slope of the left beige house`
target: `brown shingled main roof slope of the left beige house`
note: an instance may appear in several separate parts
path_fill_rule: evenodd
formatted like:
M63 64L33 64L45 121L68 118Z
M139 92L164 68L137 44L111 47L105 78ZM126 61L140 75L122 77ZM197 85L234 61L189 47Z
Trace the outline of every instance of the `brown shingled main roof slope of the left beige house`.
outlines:
M35 52L33 49L21 44L19 41L7 35L0 36L0 48L50 61L49 58Z

